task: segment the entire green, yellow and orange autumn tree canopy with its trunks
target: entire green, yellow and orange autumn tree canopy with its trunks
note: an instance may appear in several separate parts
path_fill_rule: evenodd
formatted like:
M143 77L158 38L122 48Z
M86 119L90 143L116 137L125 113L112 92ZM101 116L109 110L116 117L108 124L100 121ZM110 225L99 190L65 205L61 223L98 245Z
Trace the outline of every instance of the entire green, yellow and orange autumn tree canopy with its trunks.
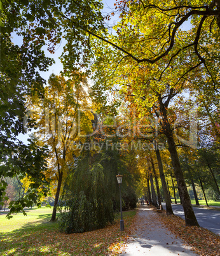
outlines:
M1 176L20 175L24 178L28 174L34 179L36 169L41 169L41 176L38 177L41 183L46 182L49 176L57 180L52 217L55 220L62 179L74 169L74 162L82 153L73 152L71 145L85 143L86 137L90 137L88 134L97 132L97 124L102 118L102 125L109 126L105 130L107 132L100 130L101 135L92 137L95 142L102 141L109 146L114 143L130 145L141 139L144 143L152 143L156 155L149 153L150 148L142 148L135 153L124 150L117 154L117 159L127 161L125 166L130 170L130 177L146 174L145 191L149 197L152 196L155 205L154 178L160 197L157 171L162 179L166 201L168 191L164 171L167 169L175 194L171 167L165 167L165 162L169 162L170 166L172 163L186 225L198 225L186 182L197 182L203 190L206 182L203 177L209 172L219 192L217 168L210 165L207 156L209 149L219 143L220 1L122 0L116 1L114 7L114 11L104 16L103 4L98 0L1 1ZM109 28L107 22L114 15L118 15L118 20ZM186 22L191 25L183 29ZM13 33L22 38L22 45L12 43ZM52 75L47 85L39 71L46 70L53 60L46 57L43 46L54 53L55 46L63 38L65 46L60 60L64 71L60 76ZM89 100L81 86L86 79L92 84ZM31 127L36 127L39 134L44 133L45 128L47 130L43 139L32 139L25 146L18 141L17 135L24 132L24 113L33 106L36 110L41 108L43 113L36 111L29 120ZM82 124L78 124L78 129L73 132L72 120L83 113L76 111L77 108L88 106L91 110L84 111ZM193 109L196 115L190 114ZM185 112L188 115L184 115ZM192 121L197 116L201 118L199 125ZM60 122L61 119L64 122ZM133 131L137 128L138 134L130 132L130 127L134 128ZM84 139L78 136L79 128L83 130ZM203 139L203 150L201 141L207 129L211 131L213 145L209 147ZM106 141L112 137L115 138ZM194 139L194 144L191 139ZM197 141L200 144L196 144ZM170 155L169 160L166 160L164 152L160 156L156 143L164 144ZM49 158L46 157L45 144L49 146ZM196 155L206 167L202 168L198 162L186 163L184 157L182 160L184 152L179 150L179 146L188 146L193 150L197 147ZM100 152L106 153L102 148ZM218 159L219 148L215 152ZM191 155L190 150L188 154ZM148 158L147 162L142 156ZM45 159L49 163L47 170ZM129 161L135 164L133 169ZM142 162L144 167L140 164ZM158 170L155 162L158 162ZM25 169L25 164L31 167ZM202 174L200 171L195 174L195 179L191 176L194 164L203 169ZM6 171L7 167L10 171ZM100 178L102 167L95 165L94 168L88 166L85 172L99 174ZM41 187L36 184L34 188ZM0 196L3 196L5 188L4 181ZM76 189L78 194L81 191ZM80 198L88 200L84 196ZM19 203L19 207L22 206ZM170 204L169 207L172 214Z

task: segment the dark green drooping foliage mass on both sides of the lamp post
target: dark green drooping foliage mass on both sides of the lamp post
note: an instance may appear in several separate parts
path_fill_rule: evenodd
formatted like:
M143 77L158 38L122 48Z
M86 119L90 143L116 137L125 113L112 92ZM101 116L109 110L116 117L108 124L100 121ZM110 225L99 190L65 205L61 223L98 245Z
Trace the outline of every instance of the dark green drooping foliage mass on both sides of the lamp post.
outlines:
M60 202L60 229L65 232L85 232L105 227L113 222L114 211L120 209L118 183L116 174L123 174L124 209L135 208L136 196L130 186L132 183L121 152L106 147L117 141L95 134L86 139L86 145L97 143L102 139L102 150L87 147L78 157L77 164L69 171L65 180L62 201Z

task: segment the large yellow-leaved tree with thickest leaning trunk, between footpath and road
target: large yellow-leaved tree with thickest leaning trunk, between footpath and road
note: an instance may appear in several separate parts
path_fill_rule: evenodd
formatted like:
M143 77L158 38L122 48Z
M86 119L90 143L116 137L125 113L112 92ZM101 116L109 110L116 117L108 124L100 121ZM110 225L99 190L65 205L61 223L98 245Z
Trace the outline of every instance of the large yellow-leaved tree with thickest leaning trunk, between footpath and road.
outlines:
M120 21L113 35L107 34L99 1L60 1L48 5L49 9L53 6L53 11L46 13L48 18L44 22L40 16L36 24L44 24L46 29L55 24L55 36L40 28L42 36L50 35L48 39L52 45L54 38L60 39L63 32L67 40L62 55L65 75L69 76L76 64L88 68L92 53L95 53L98 68L94 79L100 80L94 88L111 89L110 78L114 77L116 90L120 88L127 92L127 97L137 97L140 112L146 113L154 106L154 113L162 115L161 126L167 137L186 224L198 225L189 203L167 108L170 99L183 89L189 89L194 82L199 86L207 83L210 89L217 90L219 0L186 4L182 1L154 1L153 4L149 1L118 1L116 8L120 11ZM181 25L188 18L192 28L182 31ZM104 57L109 57L107 65L100 65ZM109 76L103 76L102 72ZM135 81L132 88L129 80ZM100 95L102 93L99 99L103 98ZM146 96L150 96L151 101L146 101Z

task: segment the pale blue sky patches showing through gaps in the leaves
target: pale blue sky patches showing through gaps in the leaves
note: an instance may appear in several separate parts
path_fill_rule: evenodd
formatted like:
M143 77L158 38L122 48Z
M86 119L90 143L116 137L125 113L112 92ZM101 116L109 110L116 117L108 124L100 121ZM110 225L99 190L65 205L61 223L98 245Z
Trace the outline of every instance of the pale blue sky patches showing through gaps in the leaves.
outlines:
M107 13L111 13L114 10L114 3L116 3L116 1L114 0L104 0L103 4L104 4L104 8L103 8L103 14L107 15ZM118 19L118 15L115 15L112 19L113 24L116 24ZM190 27L190 21L184 22L184 24L182 25L181 29L183 30L188 30ZM18 38L18 36L16 36L15 34L13 35L13 39L12 39L13 43L17 44L17 45L22 45L22 39ZM48 69L48 71L45 72L40 72L41 76L47 81L49 76L54 73L55 75L59 75L60 71L62 71L62 64L60 62L60 55L62 54L63 48L65 45L65 40L62 39L62 41L60 42L59 45L56 46L55 48L55 53L52 54L50 52L48 52L46 50L46 46L45 46L45 54L47 57L51 57L55 60L55 64L53 64L52 66L50 66L50 68ZM18 139L21 139L25 144L27 144L27 138L29 138L28 134L20 134L18 136Z

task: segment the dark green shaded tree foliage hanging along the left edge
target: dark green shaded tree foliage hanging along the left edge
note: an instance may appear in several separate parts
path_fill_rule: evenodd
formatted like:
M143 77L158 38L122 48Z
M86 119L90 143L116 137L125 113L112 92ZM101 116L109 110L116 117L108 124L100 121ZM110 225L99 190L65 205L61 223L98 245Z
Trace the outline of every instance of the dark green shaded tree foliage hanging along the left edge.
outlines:
M25 145L17 136L24 133L25 95L31 94L31 90L41 94L45 80L41 78L39 71L45 71L53 63L41 50L44 45L40 38L42 22L49 20L49 17L46 20L43 18L45 11L50 13L48 7L48 3L42 4L41 1L0 2L0 201L4 199L7 187L4 178L17 177L19 180L28 175L32 181L29 196L10 202L10 214L39 203L40 196L36 196L33 189L47 186L43 175L46 168L46 148L34 145L34 140ZM31 34L29 25L34 19L41 24ZM24 39L19 46L12 43L11 38L15 34ZM46 189L44 190L46 193ZM8 217L11 217L10 214Z

